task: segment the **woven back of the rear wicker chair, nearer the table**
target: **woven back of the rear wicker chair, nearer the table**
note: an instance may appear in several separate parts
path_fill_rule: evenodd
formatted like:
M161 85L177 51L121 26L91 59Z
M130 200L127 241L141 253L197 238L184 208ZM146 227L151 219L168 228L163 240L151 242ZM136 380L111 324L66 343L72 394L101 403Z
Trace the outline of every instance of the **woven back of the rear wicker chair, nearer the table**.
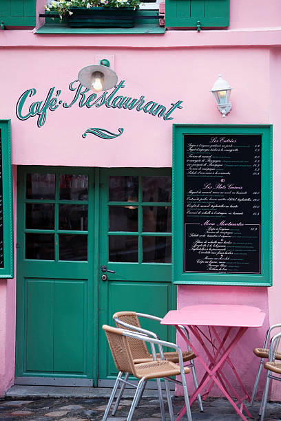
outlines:
M124 323L127 323L128 325L141 327L141 323L138 320L138 316L136 315L136 312L117 312L113 316L113 320L116 323L117 327L121 327L121 329L126 330L132 330L134 332L134 328L124 327L123 325L118 323L119 321L122 321ZM127 338L129 347L132 352L133 360L141 360L143 358L152 358L152 356L149 354L147 345L145 341L140 341L139 339L135 338Z

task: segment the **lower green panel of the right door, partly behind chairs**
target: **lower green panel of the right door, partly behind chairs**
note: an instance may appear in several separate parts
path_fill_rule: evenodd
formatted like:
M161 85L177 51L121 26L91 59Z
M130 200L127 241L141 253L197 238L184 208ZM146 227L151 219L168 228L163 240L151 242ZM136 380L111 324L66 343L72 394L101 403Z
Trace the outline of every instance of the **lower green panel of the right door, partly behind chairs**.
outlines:
M170 310L171 283L147 282L110 282L108 297L108 321L115 326L112 315L115 312L136 311L165 316ZM142 327L156 332L161 339L168 340L167 325L160 325L157 321L140 319ZM108 353L109 376L116 375L116 367L111 353Z

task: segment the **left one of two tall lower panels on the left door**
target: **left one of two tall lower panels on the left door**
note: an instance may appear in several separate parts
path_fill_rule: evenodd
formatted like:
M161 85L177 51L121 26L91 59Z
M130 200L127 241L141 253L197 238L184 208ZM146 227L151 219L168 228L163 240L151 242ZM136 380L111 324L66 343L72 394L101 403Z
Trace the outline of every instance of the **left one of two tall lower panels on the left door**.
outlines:
M25 280L25 303L25 371L52 371L54 281Z

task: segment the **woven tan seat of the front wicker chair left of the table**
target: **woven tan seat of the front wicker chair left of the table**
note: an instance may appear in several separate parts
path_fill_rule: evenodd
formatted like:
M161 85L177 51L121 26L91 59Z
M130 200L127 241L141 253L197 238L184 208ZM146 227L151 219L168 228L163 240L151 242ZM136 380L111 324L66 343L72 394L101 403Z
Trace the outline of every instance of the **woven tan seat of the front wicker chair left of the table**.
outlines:
M136 376L137 378L161 378L169 376L178 376L180 374L180 367L171 363L171 361L149 361L148 363L136 364ZM188 367L184 367L185 374L189 373Z

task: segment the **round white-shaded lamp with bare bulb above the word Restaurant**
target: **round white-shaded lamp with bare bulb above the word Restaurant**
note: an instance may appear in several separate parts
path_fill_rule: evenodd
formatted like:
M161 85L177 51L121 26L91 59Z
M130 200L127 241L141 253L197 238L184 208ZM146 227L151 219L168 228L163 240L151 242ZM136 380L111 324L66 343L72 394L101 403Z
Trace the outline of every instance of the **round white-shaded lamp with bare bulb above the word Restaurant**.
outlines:
M110 62L105 58L98 65L83 67L78 74L81 85L94 92L107 91L117 83L116 73L110 69Z

